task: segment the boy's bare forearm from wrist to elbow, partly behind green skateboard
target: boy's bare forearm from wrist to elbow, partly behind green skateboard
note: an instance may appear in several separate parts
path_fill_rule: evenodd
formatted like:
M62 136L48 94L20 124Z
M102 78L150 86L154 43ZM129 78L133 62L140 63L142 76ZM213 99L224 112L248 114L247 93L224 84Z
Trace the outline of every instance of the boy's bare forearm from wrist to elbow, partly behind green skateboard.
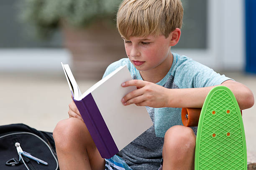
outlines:
M234 93L241 110L250 108L254 104L253 93L245 85L227 80L225 85ZM167 107L192 107L202 108L207 94L215 86L187 89L169 89L169 102Z

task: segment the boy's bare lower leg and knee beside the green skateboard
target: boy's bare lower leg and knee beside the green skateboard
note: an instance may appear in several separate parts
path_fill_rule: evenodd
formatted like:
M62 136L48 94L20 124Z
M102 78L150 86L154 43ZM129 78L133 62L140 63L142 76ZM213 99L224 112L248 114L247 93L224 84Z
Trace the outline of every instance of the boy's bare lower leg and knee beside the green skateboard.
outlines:
M163 170L194 170L196 136L191 128L173 126L164 136Z

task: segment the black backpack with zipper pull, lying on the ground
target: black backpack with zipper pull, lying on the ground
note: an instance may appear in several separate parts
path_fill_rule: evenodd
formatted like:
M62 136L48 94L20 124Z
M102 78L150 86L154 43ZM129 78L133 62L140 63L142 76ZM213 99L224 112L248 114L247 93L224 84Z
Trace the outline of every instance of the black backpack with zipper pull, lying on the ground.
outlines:
M52 133L24 124L0 126L0 170L59 170Z

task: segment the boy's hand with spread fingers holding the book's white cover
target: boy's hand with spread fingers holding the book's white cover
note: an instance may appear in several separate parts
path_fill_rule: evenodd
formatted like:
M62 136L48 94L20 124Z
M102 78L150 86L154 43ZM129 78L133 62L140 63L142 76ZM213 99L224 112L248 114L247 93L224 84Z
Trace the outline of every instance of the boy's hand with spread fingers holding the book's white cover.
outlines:
M153 82L143 80L130 80L124 82L122 87L136 86L134 90L123 97L123 105L136 104L137 106L167 107L168 89Z

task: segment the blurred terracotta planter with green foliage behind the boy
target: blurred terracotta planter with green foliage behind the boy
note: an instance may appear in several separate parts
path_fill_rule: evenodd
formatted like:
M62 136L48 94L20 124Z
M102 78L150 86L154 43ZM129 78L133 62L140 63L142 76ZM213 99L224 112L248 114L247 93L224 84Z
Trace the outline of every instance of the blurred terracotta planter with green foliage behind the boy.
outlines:
M76 78L100 79L106 67L125 56L115 26L121 0L23 0L20 18L41 39L61 30L73 57Z

